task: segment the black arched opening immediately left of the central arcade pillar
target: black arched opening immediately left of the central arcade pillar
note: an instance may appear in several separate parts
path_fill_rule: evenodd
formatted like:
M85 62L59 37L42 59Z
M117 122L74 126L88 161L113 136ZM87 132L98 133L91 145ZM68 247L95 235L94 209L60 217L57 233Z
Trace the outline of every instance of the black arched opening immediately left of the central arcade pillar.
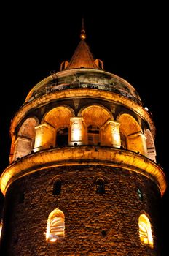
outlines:
M58 129L56 135L56 146L67 146L68 145L68 128L62 127Z

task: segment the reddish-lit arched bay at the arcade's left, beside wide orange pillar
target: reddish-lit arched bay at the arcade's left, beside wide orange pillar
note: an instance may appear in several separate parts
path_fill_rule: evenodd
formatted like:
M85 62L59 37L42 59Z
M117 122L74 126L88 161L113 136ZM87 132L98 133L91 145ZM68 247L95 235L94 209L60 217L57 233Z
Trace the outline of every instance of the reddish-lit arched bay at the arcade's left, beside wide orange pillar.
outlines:
M24 157L31 153L34 148L34 140L36 134L36 125L38 121L35 118L28 118L24 121L17 133L15 140L15 150L13 159Z

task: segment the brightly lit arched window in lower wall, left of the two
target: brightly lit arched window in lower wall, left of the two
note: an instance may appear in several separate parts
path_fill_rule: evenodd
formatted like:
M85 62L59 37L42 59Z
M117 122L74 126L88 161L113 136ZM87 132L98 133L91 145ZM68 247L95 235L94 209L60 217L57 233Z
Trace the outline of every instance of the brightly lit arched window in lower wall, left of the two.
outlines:
M57 240L64 237L65 216L63 211L58 208L52 211L47 219L46 239L50 243L55 243Z

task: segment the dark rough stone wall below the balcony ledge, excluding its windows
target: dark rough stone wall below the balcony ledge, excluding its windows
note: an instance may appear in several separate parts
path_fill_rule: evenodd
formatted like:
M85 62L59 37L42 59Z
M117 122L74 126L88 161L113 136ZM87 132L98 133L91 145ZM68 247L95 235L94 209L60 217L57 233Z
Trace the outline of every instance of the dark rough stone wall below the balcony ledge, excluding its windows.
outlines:
M63 181L61 193L52 195L58 175ZM98 177L106 182L103 195L96 193ZM92 165L41 170L15 181L6 200L4 255L159 255L160 192L138 173ZM55 208L65 214L65 238L49 244L44 233ZM153 249L139 238L138 217L144 212L152 225Z

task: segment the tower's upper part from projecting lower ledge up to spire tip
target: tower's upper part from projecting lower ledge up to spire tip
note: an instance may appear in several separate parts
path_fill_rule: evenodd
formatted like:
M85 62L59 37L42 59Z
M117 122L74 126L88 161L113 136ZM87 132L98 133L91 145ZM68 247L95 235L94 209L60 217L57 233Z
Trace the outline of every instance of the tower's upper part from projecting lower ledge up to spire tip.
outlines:
M1 191L40 165L76 165L84 159L142 173L163 195L165 175L155 163L152 116L130 83L94 60L85 39L82 24L71 61L37 83L12 119L11 165L1 176Z

